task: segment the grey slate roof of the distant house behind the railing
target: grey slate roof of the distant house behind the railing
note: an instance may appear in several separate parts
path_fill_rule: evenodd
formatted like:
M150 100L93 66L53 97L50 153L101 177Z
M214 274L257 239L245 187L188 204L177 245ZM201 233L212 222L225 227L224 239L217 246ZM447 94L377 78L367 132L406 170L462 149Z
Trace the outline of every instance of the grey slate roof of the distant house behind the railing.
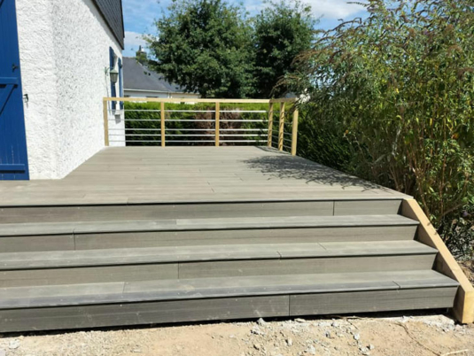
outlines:
M136 61L136 58L123 58L123 88L183 93L183 88L170 83L162 74L153 72Z

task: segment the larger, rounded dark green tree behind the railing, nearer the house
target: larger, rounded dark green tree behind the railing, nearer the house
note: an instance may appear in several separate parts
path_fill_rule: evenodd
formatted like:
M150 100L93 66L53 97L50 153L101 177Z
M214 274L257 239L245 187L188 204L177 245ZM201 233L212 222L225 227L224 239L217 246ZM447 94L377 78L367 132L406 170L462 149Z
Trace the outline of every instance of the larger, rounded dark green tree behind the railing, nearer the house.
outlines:
M173 0L147 36L153 69L202 97L253 93L251 27L241 6L225 0Z

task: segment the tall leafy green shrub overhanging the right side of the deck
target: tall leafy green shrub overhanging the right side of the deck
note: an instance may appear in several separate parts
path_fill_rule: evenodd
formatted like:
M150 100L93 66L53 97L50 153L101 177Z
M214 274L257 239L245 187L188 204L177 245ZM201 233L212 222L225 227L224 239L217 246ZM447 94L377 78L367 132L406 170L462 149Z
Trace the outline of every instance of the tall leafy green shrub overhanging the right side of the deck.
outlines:
M472 1L368 10L322 33L287 84L308 89L319 127L345 133L355 174L415 196L441 226L474 203Z

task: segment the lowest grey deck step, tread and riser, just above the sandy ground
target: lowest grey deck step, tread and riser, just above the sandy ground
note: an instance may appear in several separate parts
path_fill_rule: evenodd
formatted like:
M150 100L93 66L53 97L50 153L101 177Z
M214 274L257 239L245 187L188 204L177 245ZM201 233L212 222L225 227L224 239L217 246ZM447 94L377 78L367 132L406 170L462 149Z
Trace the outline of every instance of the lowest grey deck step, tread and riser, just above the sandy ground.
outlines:
M452 307L434 271L274 275L0 289L0 332Z

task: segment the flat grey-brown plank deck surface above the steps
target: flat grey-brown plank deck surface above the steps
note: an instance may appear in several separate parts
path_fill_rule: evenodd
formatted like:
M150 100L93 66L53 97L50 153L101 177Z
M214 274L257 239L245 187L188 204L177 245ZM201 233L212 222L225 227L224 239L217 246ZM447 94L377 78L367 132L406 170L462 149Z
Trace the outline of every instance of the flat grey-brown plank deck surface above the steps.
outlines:
M0 206L401 199L266 147L114 147L62 180L0 182Z

